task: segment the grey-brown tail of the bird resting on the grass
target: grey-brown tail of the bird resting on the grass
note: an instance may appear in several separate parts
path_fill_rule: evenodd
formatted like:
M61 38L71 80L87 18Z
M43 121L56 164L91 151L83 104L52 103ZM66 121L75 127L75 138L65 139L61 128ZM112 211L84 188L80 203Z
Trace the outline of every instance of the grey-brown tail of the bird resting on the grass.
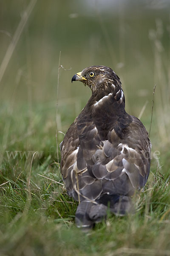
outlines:
M81 201L75 217L77 227L91 229L95 223L106 219L108 210L119 216L134 212L129 196L103 195L98 201Z

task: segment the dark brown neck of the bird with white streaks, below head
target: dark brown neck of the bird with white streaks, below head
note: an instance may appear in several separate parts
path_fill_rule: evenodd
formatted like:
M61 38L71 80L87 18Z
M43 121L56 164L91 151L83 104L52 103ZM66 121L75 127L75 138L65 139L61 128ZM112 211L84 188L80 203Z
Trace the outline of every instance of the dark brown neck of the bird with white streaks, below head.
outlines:
M121 124L122 128L125 128L129 122L130 116L125 111L125 96L122 87L113 89L99 94L93 93L85 106L85 111L90 113L102 140L107 138L109 131L119 127L122 120L126 120L125 124Z

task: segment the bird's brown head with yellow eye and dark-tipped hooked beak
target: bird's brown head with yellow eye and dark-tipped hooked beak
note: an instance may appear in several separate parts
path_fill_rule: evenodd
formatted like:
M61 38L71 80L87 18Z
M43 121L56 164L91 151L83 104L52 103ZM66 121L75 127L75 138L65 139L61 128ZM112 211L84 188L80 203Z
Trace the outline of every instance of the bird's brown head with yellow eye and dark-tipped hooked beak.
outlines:
M113 90L113 87L119 90L121 87L119 77L110 67L105 66L86 67L72 77L71 82L73 81L83 82L91 88L93 93L101 90Z

